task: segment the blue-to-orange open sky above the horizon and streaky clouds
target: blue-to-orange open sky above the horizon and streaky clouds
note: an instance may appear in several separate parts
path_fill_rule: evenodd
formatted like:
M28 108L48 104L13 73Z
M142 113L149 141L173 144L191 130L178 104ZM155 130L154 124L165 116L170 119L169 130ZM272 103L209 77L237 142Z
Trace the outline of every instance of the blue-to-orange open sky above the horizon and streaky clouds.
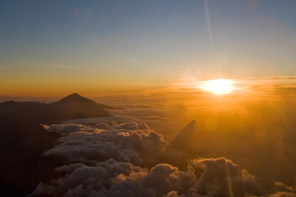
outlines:
M0 96L296 75L295 1L1 1Z

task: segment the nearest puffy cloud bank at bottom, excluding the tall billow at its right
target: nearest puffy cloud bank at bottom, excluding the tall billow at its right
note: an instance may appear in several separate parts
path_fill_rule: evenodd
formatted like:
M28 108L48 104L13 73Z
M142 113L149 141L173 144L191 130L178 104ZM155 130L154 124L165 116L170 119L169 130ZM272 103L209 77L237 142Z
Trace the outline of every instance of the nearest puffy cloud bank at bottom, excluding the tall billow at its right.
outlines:
M141 168L114 159L97 163L63 166L70 172L51 184L40 183L32 195L62 196L162 196L171 190L187 193L196 184L193 167L179 171L169 164Z

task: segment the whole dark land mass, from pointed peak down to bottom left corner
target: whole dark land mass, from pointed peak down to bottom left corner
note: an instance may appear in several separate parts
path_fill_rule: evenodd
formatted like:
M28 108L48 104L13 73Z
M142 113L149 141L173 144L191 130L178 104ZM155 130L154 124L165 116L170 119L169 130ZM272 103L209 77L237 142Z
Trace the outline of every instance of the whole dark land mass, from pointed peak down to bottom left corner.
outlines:
M77 93L50 104L38 101L0 103L0 191L3 196L29 195L40 182L49 181L54 176L52 169L61 165L42 156L61 135L45 131L41 124L109 117L106 109L123 108L99 104Z

